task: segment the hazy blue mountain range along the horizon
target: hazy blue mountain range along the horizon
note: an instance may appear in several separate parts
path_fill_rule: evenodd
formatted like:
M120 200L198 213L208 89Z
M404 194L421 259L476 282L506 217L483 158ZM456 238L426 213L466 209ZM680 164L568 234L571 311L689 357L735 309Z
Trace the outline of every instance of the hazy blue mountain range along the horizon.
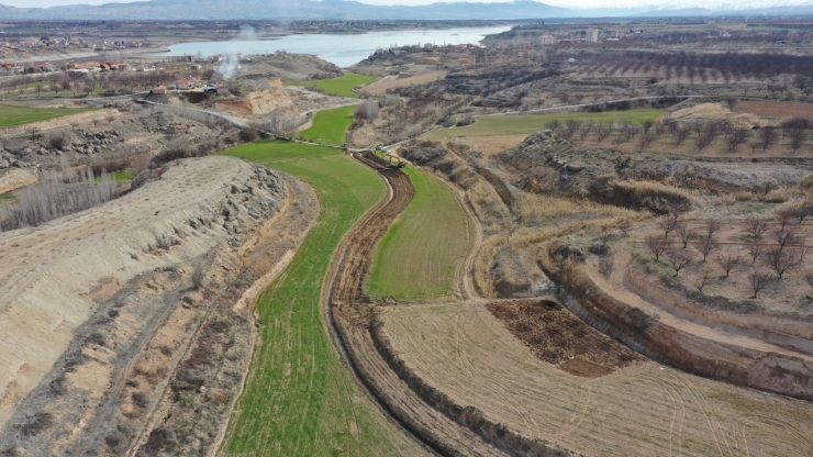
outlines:
M692 1L692 0L688 0ZM343 0L151 0L101 5L14 8L0 4L0 20L522 20L599 16L719 16L813 14L813 4L717 3L713 9L671 2L635 9L566 9L532 0L504 3L444 2L379 7ZM709 4L709 3L706 3ZM737 8L737 4L742 4ZM679 7L679 9L677 9Z

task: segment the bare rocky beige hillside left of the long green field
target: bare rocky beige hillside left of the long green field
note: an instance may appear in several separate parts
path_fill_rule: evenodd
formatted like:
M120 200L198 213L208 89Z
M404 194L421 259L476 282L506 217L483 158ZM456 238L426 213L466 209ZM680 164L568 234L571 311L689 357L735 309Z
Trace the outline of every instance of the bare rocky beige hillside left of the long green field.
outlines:
M258 290L318 214L310 188L229 157L0 233L0 452L200 455L246 372Z

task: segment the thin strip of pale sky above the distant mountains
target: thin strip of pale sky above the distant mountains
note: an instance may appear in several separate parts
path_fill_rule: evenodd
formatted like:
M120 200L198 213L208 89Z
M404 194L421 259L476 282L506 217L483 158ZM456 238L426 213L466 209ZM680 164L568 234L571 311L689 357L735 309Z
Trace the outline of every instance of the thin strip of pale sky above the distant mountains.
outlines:
M0 0L0 4L7 4L18 8L47 8L62 4L102 4L102 3L126 3L134 0ZM419 5L427 4L439 1L453 1L453 0L356 0L363 3L388 5L388 4L409 4ZM493 2L493 1L505 1L505 0L467 0L467 1L481 1L481 2ZM606 0L541 0L543 3L552 4L555 7L570 8L575 10L579 9L603 9L603 8L642 8L643 5L653 5L653 9L660 8L692 8L692 7L705 7L705 8L721 8L726 7L746 7L754 8L759 5L777 5L777 4L809 4L813 3L813 0L614 0L612 3L608 3ZM746 4L747 3L747 4Z

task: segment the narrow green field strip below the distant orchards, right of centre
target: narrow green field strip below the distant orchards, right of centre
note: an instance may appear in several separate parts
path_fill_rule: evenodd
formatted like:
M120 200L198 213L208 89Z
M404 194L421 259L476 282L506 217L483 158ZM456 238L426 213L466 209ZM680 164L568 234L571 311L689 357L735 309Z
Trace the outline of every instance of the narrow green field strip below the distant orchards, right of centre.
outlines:
M536 133L545 129L545 124L556 119L563 124L569 119L581 122L608 123L631 121L634 124L650 119L655 120L664 114L661 110L641 109L628 111L604 111L601 113L550 113L550 114L516 114L489 115L477 118L477 122L465 127L438 129L426 134L427 138L439 140L455 136L488 136L488 135L517 135Z

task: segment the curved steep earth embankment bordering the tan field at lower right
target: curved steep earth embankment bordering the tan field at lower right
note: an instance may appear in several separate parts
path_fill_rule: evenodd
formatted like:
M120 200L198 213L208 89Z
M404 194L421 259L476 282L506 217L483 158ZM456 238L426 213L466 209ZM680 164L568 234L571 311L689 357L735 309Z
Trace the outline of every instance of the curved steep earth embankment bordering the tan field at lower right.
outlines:
M705 326L668 313L633 293L612 291L577 267L546 270L575 300L568 308L631 347L683 371L739 386L813 399L813 358L737 332Z

